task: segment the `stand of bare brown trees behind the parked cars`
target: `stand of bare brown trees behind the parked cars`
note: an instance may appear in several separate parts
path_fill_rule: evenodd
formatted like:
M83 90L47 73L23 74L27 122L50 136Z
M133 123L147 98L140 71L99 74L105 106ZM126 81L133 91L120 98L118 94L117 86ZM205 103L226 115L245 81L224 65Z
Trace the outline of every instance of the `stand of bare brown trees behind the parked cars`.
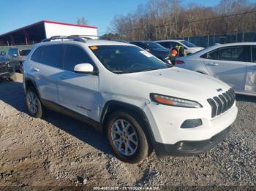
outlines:
M112 31L127 40L168 39L256 30L256 3L222 0L215 7L179 0L149 0L135 12L114 17ZM243 15L241 13L251 12ZM239 15L240 14L240 15Z

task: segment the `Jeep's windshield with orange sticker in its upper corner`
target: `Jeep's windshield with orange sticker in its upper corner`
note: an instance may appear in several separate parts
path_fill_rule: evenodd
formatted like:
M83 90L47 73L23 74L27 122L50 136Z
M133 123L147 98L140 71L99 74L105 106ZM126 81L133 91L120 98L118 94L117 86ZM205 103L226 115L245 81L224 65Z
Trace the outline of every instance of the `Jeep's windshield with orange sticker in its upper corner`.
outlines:
M167 69L170 67L139 47L102 45L92 46L90 49L106 69L116 74Z

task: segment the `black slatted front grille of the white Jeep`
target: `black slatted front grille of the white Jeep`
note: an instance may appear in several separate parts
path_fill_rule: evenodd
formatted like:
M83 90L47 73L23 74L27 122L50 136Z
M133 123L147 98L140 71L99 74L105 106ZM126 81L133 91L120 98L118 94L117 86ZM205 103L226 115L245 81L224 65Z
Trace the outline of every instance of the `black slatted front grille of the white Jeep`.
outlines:
M211 117L216 117L219 114L226 112L233 106L236 99L236 94L233 89L228 90L214 98L209 98L207 101L211 106Z

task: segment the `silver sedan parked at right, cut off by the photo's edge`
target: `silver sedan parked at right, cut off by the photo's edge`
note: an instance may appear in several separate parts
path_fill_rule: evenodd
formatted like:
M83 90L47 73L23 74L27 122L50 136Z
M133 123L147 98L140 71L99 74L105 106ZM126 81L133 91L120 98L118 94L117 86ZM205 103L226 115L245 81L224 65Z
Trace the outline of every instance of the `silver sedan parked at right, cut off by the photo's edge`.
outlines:
M216 77L238 94L256 95L256 42L217 44L178 58L176 66Z

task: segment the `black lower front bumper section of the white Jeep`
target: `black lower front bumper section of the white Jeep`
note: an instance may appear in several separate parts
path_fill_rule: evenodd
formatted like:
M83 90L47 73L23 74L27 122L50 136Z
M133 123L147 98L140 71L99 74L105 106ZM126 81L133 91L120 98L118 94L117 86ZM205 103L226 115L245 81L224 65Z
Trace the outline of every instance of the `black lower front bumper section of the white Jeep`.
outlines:
M162 144L155 142L154 149L158 157L165 157L167 155L198 155L212 149L220 141L225 140L229 132L230 128L226 128L220 133L217 133L217 135L211 137L211 139L203 141L178 141L176 144Z

